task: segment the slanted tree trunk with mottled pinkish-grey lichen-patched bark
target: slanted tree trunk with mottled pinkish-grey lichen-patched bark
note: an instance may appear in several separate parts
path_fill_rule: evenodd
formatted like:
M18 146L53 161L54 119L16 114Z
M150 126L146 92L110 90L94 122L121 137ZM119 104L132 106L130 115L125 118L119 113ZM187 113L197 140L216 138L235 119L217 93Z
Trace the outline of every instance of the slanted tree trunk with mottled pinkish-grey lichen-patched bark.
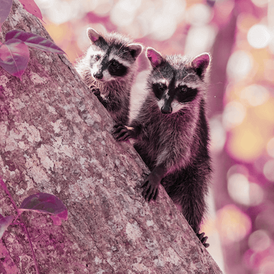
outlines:
M14 1L3 23L49 38ZM23 213L40 273L221 273L160 188L146 203L148 174L133 147L119 143L113 122L64 55L30 49L22 82L0 68L0 174L17 206L36 192L59 197L69 220ZM0 189L0 213L15 214ZM1 273L35 273L21 225L0 242Z

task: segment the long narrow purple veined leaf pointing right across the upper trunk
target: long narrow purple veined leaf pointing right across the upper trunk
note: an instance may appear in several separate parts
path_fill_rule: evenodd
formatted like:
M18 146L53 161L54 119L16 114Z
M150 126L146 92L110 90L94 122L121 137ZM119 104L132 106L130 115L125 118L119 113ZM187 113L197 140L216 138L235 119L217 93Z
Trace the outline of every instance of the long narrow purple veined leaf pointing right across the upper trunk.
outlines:
M23 32L23 30L14 29L5 34L5 40L8 41L12 38L16 38L25 42L29 47L40 49L41 51L49 51L52 53L64 54L65 52L56 46L51 40L44 38L37 34L31 34L29 32ZM65 53L66 54L66 53Z

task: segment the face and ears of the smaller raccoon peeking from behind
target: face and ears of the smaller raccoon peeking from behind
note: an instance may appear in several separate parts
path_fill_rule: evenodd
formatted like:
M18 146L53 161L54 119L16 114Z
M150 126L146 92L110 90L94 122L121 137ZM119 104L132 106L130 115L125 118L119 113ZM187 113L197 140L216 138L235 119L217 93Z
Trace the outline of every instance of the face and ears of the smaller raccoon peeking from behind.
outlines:
M142 45L127 44L119 34L108 34L109 37L104 38L91 28L87 34L92 44L87 53L90 74L99 82L125 77L142 51Z

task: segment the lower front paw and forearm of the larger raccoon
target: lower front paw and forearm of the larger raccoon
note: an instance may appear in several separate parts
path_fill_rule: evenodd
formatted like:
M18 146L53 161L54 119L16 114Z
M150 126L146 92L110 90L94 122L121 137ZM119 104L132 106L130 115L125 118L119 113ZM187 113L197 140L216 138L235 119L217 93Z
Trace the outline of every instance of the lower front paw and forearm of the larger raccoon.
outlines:
M142 184L142 196L145 198L146 201L151 201L151 199L155 200L158 196L158 188L166 173L166 168L164 164L160 164L159 166L155 166L155 168L149 174L149 177L145 180L144 184Z

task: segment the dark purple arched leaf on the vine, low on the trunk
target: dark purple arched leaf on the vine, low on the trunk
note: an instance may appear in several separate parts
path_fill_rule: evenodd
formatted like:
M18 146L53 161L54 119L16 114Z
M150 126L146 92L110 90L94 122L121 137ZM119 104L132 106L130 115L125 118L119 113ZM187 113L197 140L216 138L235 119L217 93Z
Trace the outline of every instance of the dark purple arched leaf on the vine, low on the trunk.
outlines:
M58 216L60 214L60 216L64 215L64 218L67 216L66 206L58 197L42 192L31 195L22 202L18 211L23 212L25 210L47 212Z

